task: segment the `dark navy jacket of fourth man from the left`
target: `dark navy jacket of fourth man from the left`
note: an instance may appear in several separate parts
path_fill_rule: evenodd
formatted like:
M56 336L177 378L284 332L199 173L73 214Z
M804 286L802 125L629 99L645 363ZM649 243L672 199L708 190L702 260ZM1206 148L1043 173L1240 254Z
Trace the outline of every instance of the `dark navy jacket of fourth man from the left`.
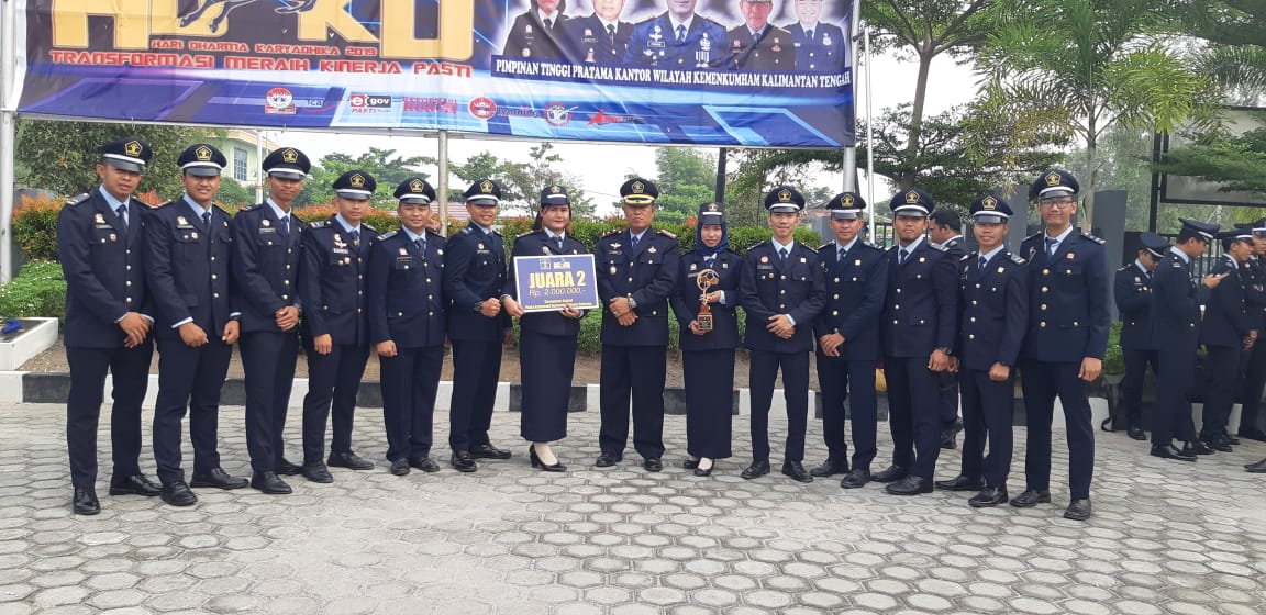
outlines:
M368 345L365 273L377 234L373 227L361 224L357 248L335 218L308 225L299 277L299 296L305 308L300 324L304 337L330 335L335 344Z

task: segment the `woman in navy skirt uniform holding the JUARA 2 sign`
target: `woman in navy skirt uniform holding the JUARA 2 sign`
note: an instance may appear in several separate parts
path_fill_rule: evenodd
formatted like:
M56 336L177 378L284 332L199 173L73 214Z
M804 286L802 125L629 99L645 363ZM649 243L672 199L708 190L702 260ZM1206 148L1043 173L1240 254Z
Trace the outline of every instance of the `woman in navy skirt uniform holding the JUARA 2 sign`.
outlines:
M585 254L585 247L572 238L571 197L563 186L541 191L541 213L536 230L514 239L514 256ZM514 264L501 302L505 311L519 319L519 368L523 382L523 411L519 434L532 443L532 467L562 472L549 443L567 437L567 400L576 370L576 337L586 310L567 308L558 311L524 314L517 301Z

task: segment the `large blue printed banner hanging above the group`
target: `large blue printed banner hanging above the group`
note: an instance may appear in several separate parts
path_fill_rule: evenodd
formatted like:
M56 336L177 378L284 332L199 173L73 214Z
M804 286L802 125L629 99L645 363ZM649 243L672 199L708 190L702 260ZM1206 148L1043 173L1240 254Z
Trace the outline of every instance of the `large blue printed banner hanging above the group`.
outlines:
M19 113L855 143L852 0L19 1Z

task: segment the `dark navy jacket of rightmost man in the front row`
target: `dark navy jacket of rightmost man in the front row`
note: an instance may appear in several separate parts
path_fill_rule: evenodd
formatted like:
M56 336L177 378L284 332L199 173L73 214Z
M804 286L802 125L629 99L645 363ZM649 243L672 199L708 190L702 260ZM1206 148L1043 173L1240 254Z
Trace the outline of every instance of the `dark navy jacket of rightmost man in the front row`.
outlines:
M1020 244L1029 262L1029 330L1023 356L1046 362L1103 359L1108 348L1108 258L1104 240L1074 229L1046 256L1043 233Z

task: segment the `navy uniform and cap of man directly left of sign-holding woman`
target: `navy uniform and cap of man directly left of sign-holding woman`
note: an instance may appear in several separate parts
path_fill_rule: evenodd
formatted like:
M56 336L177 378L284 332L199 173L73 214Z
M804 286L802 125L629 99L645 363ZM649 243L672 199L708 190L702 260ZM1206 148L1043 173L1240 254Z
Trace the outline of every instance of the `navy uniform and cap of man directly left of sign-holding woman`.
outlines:
M501 186L479 180L466 190L466 205L495 208ZM448 410L448 445L458 471L477 469L473 459L509 459L510 452L491 444L496 383L501 378L501 347L513 335L510 315L501 311L505 294L505 244L501 234L471 220L448 239L444 257L444 296L448 300L448 339L453 343L453 395ZM489 300L496 314L484 314Z

